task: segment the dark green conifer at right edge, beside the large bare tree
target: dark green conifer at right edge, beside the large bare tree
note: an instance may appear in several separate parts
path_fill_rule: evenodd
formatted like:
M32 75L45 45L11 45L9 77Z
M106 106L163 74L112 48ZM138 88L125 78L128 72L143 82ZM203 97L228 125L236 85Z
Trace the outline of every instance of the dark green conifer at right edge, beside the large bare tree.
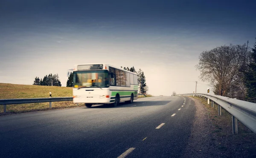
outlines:
M247 87L246 100L256 103L256 40L254 48L252 48L248 70L245 72L245 85Z

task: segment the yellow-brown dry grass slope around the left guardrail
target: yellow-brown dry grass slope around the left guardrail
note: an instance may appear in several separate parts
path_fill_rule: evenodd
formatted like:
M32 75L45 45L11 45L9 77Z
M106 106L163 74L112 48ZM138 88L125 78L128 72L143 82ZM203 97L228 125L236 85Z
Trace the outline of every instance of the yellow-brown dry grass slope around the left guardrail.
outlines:
M37 86L37 85L15 85L0 83L0 99L24 99L24 98L48 98L49 92L52 97L72 97L72 87ZM81 106L82 104L80 104ZM73 101L52 102L52 109L77 107ZM6 114L26 113L32 111L49 110L49 103L11 104L6 106ZM0 115L3 106L0 105Z

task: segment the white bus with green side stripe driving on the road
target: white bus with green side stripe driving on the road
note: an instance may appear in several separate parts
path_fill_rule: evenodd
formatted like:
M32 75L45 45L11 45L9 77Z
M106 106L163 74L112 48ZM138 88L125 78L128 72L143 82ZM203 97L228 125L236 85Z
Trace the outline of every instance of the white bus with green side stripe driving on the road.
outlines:
M73 102L93 104L132 103L137 99L137 74L108 64L80 64L73 70Z

